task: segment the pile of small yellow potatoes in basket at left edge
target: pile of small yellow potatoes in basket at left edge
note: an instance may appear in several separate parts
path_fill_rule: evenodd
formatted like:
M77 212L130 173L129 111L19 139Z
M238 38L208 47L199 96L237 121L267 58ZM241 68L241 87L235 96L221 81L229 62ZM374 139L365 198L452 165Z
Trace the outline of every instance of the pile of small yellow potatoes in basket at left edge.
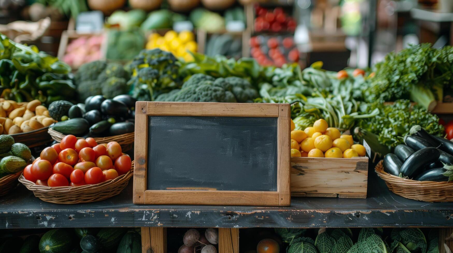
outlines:
M33 131L54 123L41 101L17 103L0 98L0 134L17 134Z

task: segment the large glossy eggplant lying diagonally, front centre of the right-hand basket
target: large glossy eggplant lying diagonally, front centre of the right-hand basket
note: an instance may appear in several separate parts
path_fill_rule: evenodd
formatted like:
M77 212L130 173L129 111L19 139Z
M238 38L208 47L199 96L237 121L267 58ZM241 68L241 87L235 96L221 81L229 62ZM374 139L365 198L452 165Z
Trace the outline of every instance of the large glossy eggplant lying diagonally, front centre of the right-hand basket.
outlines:
M436 162L439 159L439 156L439 150L434 147L417 150L404 162L400 172L403 176L414 178L423 171L425 164Z

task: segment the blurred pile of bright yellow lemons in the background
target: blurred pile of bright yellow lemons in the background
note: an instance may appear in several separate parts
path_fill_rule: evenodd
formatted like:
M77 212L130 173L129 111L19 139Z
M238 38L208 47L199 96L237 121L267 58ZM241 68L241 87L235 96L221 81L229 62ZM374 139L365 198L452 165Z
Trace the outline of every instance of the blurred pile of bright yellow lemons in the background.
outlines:
M195 36L191 31L182 31L177 33L173 30L161 36L159 33L151 33L148 36L146 49L160 48L162 51L171 52L184 61L193 61L193 56L188 53L197 52L198 44L195 42Z

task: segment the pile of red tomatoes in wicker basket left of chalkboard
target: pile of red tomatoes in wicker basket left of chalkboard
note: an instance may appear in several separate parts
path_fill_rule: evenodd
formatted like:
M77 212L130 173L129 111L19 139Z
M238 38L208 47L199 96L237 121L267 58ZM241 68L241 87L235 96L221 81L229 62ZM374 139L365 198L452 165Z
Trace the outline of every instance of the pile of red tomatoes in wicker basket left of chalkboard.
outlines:
M115 179L130 171L131 164L116 141L98 145L93 138L67 135L25 167L24 177L38 185L74 187Z

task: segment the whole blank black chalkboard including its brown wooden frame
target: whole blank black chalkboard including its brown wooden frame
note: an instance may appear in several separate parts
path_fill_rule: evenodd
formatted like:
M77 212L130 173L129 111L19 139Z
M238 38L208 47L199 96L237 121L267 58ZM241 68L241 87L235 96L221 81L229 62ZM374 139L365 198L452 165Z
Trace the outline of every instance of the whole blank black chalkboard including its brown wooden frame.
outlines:
M135 105L135 204L289 206L289 104Z

